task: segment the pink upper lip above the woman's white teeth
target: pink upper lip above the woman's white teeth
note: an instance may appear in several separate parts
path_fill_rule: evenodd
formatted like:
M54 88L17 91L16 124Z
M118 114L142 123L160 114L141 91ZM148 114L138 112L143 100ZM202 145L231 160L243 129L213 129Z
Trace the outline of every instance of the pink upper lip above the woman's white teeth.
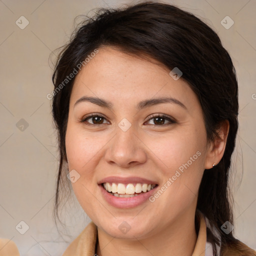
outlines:
M149 180L147 178L142 177L118 177L118 176L108 176L102 178L98 181L98 184L101 183L122 183L122 184L129 184L129 183L145 183L145 184L157 184L155 181Z

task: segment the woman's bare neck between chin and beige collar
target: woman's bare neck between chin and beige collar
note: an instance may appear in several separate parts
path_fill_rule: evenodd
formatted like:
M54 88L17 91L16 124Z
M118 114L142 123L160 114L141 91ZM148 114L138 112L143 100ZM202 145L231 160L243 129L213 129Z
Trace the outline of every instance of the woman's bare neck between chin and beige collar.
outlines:
M96 252L99 256L191 256L196 243L194 215L179 216L152 236L133 240L114 238L98 229Z

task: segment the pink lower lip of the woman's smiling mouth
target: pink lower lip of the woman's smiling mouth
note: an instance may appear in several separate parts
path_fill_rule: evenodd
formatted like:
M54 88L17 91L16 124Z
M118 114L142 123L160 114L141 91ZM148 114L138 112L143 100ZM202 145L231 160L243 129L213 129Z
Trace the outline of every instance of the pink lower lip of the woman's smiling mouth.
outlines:
M154 189L156 187L157 186L155 186L150 191L142 192L139 195L133 197L117 197L107 192L101 184L99 185L99 188L105 200L116 208L131 208L136 207L139 204L142 204L154 193Z

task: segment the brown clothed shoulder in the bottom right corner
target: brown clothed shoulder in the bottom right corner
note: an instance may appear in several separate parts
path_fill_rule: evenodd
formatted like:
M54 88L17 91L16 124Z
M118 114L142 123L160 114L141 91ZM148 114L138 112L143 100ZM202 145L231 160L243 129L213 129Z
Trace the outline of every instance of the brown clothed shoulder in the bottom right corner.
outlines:
M256 256L256 251L235 239L221 245L221 256Z

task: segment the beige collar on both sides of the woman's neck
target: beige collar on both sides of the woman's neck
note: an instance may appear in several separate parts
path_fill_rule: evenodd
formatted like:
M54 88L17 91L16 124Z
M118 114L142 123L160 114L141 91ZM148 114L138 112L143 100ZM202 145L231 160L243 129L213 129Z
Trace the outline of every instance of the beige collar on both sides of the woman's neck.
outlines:
M97 242L97 227L90 222L83 231L69 244L62 256L81 255L94 256ZM200 213L200 228L192 256L204 256L206 244L206 223Z

